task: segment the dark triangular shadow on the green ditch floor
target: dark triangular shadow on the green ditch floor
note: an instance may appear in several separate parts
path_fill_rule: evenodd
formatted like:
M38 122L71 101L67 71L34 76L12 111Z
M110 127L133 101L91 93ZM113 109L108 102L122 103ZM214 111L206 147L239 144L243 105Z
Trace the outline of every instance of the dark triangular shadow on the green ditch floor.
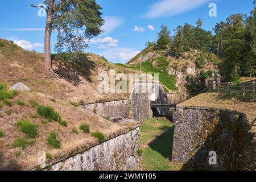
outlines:
M167 127L163 127L163 130ZM163 134L148 143L148 146L159 152L164 158L171 159L172 155L172 144L174 142L174 126L169 127Z

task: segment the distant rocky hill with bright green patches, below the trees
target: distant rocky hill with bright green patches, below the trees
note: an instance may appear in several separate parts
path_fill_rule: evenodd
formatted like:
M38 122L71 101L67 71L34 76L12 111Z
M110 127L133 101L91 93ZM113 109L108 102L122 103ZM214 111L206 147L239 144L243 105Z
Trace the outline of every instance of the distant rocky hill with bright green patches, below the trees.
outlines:
M159 81L164 85L166 93L177 93L185 88L187 92L195 92L204 85L204 81L217 70L218 58L210 52L191 49L180 57L170 56L168 49L145 48L133 57L125 68L146 73L159 73ZM189 83L193 83L189 85ZM192 94L191 92L191 94Z

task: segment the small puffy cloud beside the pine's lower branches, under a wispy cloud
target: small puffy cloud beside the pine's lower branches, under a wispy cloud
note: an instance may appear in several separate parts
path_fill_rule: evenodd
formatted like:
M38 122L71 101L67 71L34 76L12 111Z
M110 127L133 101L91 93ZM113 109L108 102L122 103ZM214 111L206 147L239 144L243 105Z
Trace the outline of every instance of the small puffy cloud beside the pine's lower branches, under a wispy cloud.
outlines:
M109 48L109 47L117 47L119 41L117 39L113 39L110 36L106 36L103 39L101 39L101 38L91 39L91 40L86 40L86 42L92 43L92 44L101 44L97 48L105 49L105 48Z

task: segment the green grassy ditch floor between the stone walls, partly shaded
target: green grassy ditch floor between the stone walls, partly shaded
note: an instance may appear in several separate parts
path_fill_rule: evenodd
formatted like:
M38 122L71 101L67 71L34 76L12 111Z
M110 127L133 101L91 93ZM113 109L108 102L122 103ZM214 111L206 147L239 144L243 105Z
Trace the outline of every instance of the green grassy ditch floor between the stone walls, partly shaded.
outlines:
M140 130L144 170L172 171L181 168L180 164L170 162L174 138L174 125L170 121L148 119Z

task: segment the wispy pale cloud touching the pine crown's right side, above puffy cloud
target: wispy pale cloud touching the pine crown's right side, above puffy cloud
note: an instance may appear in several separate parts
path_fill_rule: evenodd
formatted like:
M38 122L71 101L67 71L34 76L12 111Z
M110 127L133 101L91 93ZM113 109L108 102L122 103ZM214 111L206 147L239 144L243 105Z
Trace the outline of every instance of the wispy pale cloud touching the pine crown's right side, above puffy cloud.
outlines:
M117 17L117 16L105 16L104 17L105 23L101 27L101 30L104 30L104 34L108 34L109 32L114 31L119 26L125 22L123 18Z

